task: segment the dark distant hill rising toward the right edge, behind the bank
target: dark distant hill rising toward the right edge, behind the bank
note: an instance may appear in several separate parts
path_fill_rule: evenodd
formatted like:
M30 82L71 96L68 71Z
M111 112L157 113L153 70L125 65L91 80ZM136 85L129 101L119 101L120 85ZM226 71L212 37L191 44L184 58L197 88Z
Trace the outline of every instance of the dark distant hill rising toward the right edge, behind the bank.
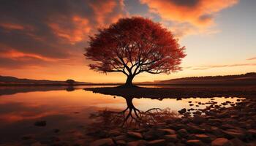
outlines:
M175 84L175 85L256 85L256 72L238 75L206 76L206 77L184 77L171 80L158 80L153 84Z

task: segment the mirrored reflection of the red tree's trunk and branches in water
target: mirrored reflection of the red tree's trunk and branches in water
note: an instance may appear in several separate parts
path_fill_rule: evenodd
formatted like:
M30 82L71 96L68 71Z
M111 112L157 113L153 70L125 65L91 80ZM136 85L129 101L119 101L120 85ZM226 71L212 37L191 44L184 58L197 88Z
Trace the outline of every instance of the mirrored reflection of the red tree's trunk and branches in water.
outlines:
M176 113L170 109L161 110L152 108L145 112L138 110L132 104L130 97L124 98L127 101L127 108L121 112L113 110L102 110L96 114L91 114L91 118L97 119L101 126L151 126L161 122L163 119L176 117Z

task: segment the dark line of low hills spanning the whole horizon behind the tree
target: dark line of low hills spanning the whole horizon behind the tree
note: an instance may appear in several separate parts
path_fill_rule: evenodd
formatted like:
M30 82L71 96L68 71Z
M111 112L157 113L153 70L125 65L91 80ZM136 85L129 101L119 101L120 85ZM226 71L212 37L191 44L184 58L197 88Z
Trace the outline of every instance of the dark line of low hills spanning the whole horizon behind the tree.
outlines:
M66 81L31 80L0 75L0 85L69 85ZM122 85L120 82L93 83L77 82L73 85ZM183 77L171 80L157 80L154 82L135 82L135 85L256 85L256 72L238 75Z

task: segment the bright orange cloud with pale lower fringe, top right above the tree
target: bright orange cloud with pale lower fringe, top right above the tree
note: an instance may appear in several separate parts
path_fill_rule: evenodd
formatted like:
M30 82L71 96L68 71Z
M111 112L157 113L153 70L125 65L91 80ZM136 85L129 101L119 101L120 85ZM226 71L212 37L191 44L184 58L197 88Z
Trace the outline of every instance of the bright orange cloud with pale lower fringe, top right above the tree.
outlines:
M238 0L140 0L140 2L146 4L149 11L158 14L163 21L174 23L171 28L175 33L178 31L177 35L181 36L181 34L195 34L198 30L207 32L206 29L214 26L214 16L217 12L232 7L238 3Z

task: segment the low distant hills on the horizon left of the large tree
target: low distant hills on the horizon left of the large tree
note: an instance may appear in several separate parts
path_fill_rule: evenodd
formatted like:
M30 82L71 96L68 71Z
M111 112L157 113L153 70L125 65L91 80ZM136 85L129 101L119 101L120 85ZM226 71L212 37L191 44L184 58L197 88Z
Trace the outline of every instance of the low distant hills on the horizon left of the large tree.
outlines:
M75 82L74 85L89 84L89 82ZM68 85L66 81L31 80L17 77L0 76L0 85Z

